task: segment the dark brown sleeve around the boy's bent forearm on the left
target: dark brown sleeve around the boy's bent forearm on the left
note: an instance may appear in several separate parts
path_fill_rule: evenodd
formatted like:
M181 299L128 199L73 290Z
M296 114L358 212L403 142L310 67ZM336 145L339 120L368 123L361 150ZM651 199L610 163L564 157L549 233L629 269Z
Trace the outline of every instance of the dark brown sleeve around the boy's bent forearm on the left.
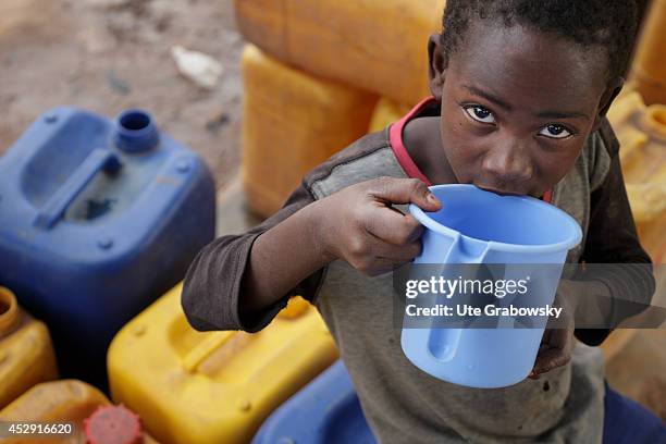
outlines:
M322 270L321 266L310 260L303 274L309 276L300 283L287 283L289 287L280 293L281 297L268 304L267 308L246 316L242 314L242 307L238 306L244 289L243 276L251 272L250 251L258 237L313 201L312 195L301 184L284 207L260 225L244 234L219 237L199 251L189 266L182 294L183 310L195 329L256 332L263 329L286 305L288 296L299 294L306 299L312 299ZM313 251L306 248L306 240L305 236L293 239L288 248L278 254L284 262L291 264L296 260L308 260L306 256ZM284 276L283 273L283 270L275 270L279 276Z

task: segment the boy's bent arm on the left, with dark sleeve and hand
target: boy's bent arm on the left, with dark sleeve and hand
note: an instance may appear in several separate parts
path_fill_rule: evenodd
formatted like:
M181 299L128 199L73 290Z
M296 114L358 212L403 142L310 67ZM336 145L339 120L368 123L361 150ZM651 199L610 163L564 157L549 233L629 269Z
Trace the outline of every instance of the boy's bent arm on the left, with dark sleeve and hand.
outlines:
M411 261L421 251L423 226L393 208L400 203L441 208L418 178L375 177L317 201L304 182L263 224L199 252L183 287L188 321L197 330L256 332L288 296L312 300L321 270L334 259L369 276Z

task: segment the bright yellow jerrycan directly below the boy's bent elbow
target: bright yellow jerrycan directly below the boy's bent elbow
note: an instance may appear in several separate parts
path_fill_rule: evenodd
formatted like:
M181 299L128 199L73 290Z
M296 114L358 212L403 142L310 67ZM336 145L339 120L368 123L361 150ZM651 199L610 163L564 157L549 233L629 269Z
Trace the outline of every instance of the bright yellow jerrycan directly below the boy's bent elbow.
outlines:
M127 323L108 355L111 395L162 443L247 443L269 414L329 367L334 342L292 298L261 332L197 332L178 285Z

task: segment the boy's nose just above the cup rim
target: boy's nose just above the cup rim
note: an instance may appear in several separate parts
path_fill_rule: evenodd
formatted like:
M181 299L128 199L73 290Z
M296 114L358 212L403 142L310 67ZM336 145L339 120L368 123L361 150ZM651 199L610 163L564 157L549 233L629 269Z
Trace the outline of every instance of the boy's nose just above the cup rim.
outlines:
M510 193L521 192L534 172L527 148L518 144L491 148L481 168L489 185Z

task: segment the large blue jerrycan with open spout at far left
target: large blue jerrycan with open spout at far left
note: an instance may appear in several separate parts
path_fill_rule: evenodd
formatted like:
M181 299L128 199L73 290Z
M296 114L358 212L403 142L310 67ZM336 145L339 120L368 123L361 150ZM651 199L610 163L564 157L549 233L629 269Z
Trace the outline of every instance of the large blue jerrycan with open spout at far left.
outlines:
M0 158L0 285L44 320L61 374L106 387L114 333L214 236L201 159L127 110L40 116Z

